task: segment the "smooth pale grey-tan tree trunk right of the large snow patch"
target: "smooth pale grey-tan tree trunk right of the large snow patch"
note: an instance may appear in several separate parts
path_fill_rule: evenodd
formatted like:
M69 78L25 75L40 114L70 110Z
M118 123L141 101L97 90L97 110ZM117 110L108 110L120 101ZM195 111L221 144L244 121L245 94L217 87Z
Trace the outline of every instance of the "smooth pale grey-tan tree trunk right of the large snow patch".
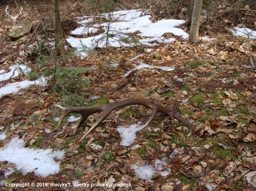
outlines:
M193 14L191 19L191 26L189 31L189 42L199 41L198 31L200 25L200 15L202 9L202 0L195 0Z

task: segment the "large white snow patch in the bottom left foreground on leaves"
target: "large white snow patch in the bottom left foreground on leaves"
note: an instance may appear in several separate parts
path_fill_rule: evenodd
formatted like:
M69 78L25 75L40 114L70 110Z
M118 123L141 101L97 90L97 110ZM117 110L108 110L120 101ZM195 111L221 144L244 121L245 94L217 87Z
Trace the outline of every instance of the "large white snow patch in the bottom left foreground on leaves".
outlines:
M65 151L30 149L24 146L23 140L13 138L7 145L0 148L0 160L16 164L17 170L22 174L34 171L36 175L46 177L60 171L60 162L56 162L54 157L61 159Z

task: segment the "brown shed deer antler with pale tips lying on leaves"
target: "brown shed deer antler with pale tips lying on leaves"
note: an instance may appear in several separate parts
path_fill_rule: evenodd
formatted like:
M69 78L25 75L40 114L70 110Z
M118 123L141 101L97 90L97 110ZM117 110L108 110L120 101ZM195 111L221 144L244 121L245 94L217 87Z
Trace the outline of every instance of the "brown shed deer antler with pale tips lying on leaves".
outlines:
M90 134L96 127L98 127L98 125L100 125L100 123L114 110L124 107L124 106L128 106L128 105L142 105L145 106L147 108L150 108L153 110L153 113L151 115L151 117L148 119L148 121L146 122L146 124L140 129L142 130L143 128L147 127L148 124L150 123L150 121L155 117L155 115L157 114L157 112L161 112L162 114L168 115L172 121L174 121L174 119L176 118L178 121L181 121L183 123L186 124L186 126L189 128L189 134L188 136L190 136L193 133L193 127L192 125L185 120L181 113L179 108L175 107L175 108L165 108L161 105L157 105L154 103L150 103L147 102L145 100L141 100L141 99L128 99L128 100L124 100L124 101L120 101L120 102L114 102L114 103L108 103L105 105L95 105L95 106L88 106L88 107L71 107L71 108L63 108L60 105L54 105L58 108L60 108L63 112L61 114L61 118L58 124L58 128L60 128L62 121L64 120L65 116L70 114L70 113L80 113L81 119L79 120L77 126L74 129L73 134L76 134L79 127L82 126L82 124L84 123L84 121L92 114L97 113L99 111L103 111L103 114L101 115L101 117L95 122L95 124L93 125L93 127L91 127L89 129L89 131L81 138L80 142L82 140L84 140L86 138L86 136L88 134Z

